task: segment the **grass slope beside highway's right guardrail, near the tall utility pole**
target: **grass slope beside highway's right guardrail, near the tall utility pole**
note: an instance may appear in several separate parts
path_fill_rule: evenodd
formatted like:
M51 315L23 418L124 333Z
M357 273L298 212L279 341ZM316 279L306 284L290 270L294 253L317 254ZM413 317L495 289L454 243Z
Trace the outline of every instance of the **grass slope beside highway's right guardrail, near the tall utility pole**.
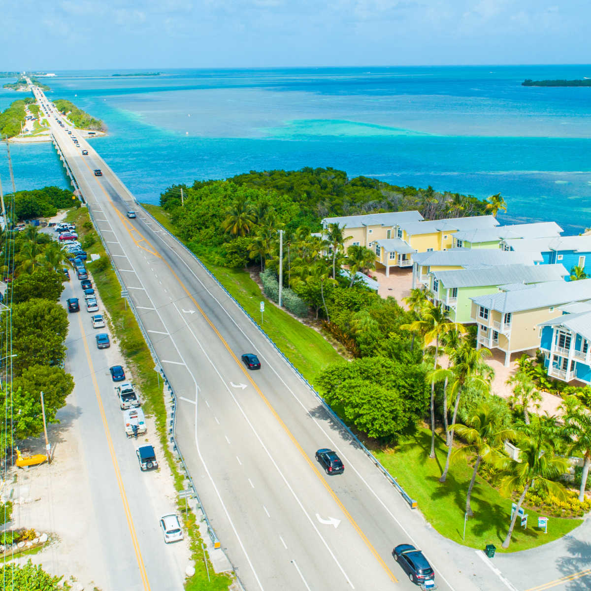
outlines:
M173 232L168 216L160 207L149 204L144 204L144 207L158 222ZM207 264L206 261L203 262ZM342 356L319 332L267 300L248 272L211 264L207 264L207 268L259 325L259 306L261 301L265 300L263 329L309 382L313 384L320 370L328 363L342 361Z

